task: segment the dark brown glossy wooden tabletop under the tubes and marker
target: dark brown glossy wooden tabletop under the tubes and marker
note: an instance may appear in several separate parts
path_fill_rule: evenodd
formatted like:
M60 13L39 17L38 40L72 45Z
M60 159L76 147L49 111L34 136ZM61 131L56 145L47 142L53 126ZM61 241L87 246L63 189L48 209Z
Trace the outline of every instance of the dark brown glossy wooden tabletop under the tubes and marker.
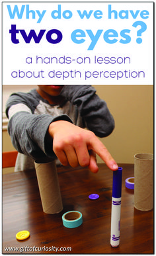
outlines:
M42 211L35 170L3 175L3 253L153 253L153 210L134 208L134 191L125 187L126 178L134 176L134 166L119 166L123 168L119 247L110 246L112 171L99 164L97 174L87 168L58 168L64 209L54 215ZM90 200L91 193L98 193L99 199ZM64 227L61 220L71 210L83 215L83 224L75 229ZM18 241L15 235L21 230L30 231L30 237Z

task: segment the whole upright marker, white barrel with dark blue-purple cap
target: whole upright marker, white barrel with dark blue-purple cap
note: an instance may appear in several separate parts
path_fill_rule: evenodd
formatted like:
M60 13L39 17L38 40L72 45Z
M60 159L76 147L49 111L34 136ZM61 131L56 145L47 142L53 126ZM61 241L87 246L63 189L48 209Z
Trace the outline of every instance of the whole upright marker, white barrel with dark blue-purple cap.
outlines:
M111 230L110 245L118 247L120 243L120 213L122 199L122 168L113 172L112 180L112 213L111 213Z

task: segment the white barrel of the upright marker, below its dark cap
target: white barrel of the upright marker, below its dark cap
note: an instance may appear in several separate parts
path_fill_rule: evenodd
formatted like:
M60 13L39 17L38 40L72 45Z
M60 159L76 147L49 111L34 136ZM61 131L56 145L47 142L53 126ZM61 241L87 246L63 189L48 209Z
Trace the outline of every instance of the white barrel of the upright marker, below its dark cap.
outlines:
M120 243L120 215L121 215L121 197L112 197L110 245L118 247Z

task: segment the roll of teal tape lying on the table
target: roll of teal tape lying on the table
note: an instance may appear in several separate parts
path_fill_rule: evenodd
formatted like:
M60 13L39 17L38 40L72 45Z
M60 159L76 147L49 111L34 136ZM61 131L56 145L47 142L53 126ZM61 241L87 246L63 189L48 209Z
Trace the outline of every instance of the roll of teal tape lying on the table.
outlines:
M62 221L65 227L73 229L83 223L83 215L79 211L67 211L62 215Z

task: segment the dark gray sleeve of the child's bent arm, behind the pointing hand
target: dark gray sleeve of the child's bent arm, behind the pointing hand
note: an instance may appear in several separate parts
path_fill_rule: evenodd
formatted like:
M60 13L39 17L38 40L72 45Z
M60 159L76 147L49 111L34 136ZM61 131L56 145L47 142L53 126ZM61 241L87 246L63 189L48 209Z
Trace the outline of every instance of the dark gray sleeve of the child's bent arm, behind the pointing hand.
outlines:
M65 85L61 95L77 105L85 126L102 138L114 130L114 118L104 100L96 94L91 85Z

